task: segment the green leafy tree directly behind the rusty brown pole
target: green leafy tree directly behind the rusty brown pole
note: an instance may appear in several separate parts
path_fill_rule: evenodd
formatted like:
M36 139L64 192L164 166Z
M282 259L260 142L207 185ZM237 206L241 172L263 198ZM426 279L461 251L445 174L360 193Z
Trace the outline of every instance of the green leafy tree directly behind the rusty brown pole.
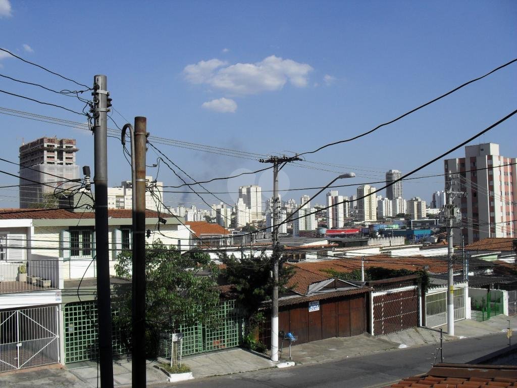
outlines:
M181 324L217 324L211 317L219 310L218 268L207 253L181 254L160 240L147 245L145 262L146 353L152 357L158 352L160 332L177 332ZM115 264L117 276L131 279L131 267L131 251L121 252ZM119 314L114 323L126 333L125 342L130 348L131 287L116 285L115 292L113 305Z

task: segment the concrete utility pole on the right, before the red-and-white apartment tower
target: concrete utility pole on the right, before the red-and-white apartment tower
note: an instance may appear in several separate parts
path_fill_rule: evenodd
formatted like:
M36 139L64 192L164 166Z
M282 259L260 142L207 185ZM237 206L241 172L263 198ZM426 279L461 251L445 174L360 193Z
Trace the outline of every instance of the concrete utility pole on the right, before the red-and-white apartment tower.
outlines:
M445 217L447 220L447 334L454 335L454 247L452 244L452 226L454 218L456 218L456 206L453 200L456 196L462 196L462 191L452 191L453 178L457 178L457 174L450 174L449 171L449 189L447 193L447 203L445 204Z

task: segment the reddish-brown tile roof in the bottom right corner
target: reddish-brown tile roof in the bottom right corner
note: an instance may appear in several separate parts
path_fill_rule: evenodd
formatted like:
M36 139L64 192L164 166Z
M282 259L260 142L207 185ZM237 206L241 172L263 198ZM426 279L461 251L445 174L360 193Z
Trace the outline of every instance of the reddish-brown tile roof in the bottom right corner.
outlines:
M517 366L436 364L424 375L405 378L386 388L480 388L517 386Z

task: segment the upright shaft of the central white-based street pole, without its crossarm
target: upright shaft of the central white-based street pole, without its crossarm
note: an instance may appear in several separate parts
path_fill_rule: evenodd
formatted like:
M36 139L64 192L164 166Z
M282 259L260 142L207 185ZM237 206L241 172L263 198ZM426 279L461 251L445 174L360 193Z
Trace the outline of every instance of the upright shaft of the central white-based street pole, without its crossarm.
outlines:
M278 159L273 160L273 295L271 300L271 361L278 361Z

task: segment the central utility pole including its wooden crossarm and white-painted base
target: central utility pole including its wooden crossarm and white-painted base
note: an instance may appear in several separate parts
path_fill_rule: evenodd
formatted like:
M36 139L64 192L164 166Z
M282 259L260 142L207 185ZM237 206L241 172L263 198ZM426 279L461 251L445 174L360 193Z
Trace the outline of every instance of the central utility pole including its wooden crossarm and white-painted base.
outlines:
M280 198L278 198L278 171L282 169L286 163L301 160L299 157L287 156L271 156L269 159L260 159L261 163L273 163L273 225L271 240L273 244L272 262L273 262L273 294L271 297L271 361L278 361L278 271L280 261L280 246L278 244L278 225L280 223ZM278 167L283 163L282 167Z

